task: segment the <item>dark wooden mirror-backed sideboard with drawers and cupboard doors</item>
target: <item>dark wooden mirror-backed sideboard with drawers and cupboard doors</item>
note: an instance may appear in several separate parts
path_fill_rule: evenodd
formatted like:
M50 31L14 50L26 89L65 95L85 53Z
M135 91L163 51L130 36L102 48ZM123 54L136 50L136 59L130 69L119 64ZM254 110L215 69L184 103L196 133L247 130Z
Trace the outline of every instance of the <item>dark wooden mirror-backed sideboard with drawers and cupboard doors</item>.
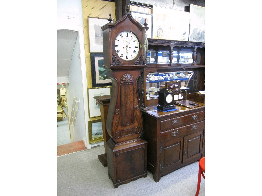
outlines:
M148 171L158 182L161 176L205 155L205 104L195 99L199 90L205 90L205 44L148 39L148 48L148 66L141 71L138 83L144 122L141 138L148 142ZM157 91L172 80L180 80L187 100L201 106L157 110Z

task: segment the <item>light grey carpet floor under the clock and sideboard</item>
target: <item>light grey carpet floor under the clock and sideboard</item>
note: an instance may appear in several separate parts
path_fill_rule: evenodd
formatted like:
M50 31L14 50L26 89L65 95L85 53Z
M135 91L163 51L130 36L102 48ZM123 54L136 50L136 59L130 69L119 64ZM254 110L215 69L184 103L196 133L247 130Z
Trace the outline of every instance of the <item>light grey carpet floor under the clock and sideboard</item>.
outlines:
M180 168L155 182L148 171L146 178L113 187L107 167L98 160L104 146L57 157L57 195L61 196L125 196L176 195L194 196L198 180L198 162ZM205 195L205 179L201 177L199 196Z

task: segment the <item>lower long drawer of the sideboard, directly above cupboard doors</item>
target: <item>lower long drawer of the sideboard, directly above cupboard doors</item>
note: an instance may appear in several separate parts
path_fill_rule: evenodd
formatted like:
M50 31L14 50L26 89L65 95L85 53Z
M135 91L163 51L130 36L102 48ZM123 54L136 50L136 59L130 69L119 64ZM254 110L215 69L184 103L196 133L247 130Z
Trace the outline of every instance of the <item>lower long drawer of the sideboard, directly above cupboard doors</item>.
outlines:
M164 131L160 133L160 142L172 140L174 138L201 131L203 129L205 129L205 121L179 127L177 129L172 129L169 131Z

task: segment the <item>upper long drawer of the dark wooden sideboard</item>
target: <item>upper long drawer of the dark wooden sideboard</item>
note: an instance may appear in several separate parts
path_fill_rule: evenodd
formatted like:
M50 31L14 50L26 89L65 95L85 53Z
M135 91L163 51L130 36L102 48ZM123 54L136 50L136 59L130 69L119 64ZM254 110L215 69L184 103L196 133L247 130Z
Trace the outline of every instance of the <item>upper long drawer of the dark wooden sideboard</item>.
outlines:
M192 124L195 122L199 122L204 119L205 119L205 111L197 112L194 114L189 114L177 118L172 118L168 120L162 120L160 122L160 132L181 127L184 125Z

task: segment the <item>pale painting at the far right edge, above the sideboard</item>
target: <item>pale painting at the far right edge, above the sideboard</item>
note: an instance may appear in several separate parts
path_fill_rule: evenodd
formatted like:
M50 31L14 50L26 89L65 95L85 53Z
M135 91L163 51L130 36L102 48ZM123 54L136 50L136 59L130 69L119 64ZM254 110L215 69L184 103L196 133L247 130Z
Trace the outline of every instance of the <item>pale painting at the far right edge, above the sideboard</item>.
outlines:
M205 8L198 5L190 4L189 10L189 41L205 42Z

